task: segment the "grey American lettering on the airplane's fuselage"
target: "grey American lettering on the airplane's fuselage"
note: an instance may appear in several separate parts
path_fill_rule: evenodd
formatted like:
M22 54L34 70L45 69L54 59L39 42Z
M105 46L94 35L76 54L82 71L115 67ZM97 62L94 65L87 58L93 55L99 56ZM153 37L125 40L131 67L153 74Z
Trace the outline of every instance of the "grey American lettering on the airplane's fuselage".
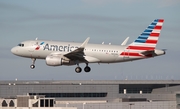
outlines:
M70 44L64 46L64 45L50 45L47 43L44 46L43 50L70 52L77 48L78 48L77 46L71 46Z

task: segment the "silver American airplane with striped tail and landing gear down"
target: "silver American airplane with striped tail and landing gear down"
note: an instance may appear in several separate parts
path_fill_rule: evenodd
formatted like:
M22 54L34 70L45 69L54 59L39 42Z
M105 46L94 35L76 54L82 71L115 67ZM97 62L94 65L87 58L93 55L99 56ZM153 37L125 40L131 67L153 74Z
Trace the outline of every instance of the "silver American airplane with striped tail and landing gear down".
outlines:
M165 54L165 50L156 49L164 19L155 19L131 44L126 45L127 37L121 45L90 44L89 37L83 43L48 40L28 40L11 49L14 55L31 58L31 69L36 59L45 59L48 66L77 65L76 73L85 63L85 72L90 72L89 63L119 63L147 59Z

